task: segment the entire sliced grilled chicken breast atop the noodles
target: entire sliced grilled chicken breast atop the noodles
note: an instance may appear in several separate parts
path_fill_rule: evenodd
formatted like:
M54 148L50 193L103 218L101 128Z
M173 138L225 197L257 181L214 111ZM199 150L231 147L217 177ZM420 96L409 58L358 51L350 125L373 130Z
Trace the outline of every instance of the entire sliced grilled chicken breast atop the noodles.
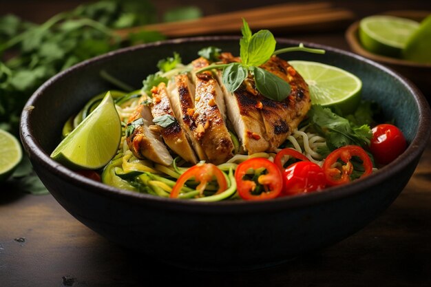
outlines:
M238 58L224 53L222 60L232 63ZM275 151L297 128L311 107L308 85L291 65L277 56L272 56L260 67L291 85L291 94L280 102L260 94L255 89L253 78L247 78L231 93L222 84L221 71L196 74L196 71L209 65L206 59L201 57L191 65L191 74L171 78L167 87L165 83L154 87L153 103L150 105L154 118L163 115L176 118L177 122L167 128L158 126L159 137L161 135L165 144L188 162L206 160L221 164L229 160L233 156L233 142L228 127L237 134L243 151L249 154ZM147 120L145 123L147 127ZM136 133L139 142L131 138L136 138ZM138 158L154 160L153 153L143 151L148 148L146 144L149 142L143 140L145 136L143 128L136 129L127 138L127 144ZM154 161L167 164L171 160L157 158Z

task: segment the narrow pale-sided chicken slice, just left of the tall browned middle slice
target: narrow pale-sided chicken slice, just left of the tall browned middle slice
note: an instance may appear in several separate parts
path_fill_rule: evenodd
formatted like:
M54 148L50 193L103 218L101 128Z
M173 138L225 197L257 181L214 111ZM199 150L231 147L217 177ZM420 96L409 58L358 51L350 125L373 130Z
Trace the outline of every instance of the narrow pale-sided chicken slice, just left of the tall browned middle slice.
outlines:
M175 76L173 81L169 81L167 92L178 123L184 129L187 139L196 151L196 155L199 160L207 160L204 149L202 149L199 141L193 136L193 130L196 129L195 119L193 118L195 87L190 81L189 76L187 74Z

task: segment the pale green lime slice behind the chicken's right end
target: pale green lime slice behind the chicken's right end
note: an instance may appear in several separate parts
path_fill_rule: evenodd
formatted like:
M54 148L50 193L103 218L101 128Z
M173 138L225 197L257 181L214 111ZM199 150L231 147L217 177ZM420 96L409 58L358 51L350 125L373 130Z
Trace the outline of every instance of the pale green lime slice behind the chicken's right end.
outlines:
M311 103L352 114L361 100L362 82L339 67L317 62L289 61L310 88Z

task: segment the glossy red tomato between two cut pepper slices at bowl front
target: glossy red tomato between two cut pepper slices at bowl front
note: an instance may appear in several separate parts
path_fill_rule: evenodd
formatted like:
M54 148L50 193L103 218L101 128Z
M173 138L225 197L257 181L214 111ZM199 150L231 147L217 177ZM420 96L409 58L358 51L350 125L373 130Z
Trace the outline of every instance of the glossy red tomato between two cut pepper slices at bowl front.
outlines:
M289 165L283 171L283 182L286 195L319 191L326 187L323 169L310 161Z

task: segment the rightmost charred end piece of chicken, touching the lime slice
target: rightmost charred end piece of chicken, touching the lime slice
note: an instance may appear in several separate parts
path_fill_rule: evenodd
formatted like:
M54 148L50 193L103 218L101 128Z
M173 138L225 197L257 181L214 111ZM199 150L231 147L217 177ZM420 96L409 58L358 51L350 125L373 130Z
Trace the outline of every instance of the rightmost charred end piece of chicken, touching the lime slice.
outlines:
M281 102L263 96L261 98L262 109L260 112L264 120L266 139L270 143L269 150L274 150L305 118L311 107L311 98L304 78L286 61L272 56L260 67L283 78L291 85L291 94Z

